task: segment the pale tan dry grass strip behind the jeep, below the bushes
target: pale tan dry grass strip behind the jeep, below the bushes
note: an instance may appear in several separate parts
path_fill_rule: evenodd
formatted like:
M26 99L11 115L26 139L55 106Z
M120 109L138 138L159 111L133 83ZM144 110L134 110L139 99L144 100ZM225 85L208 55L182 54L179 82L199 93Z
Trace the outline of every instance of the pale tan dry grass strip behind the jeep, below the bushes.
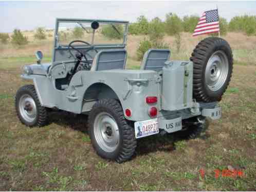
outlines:
M52 46L53 46L53 37L48 37L46 40L34 40L33 32L24 32L28 36L29 44L22 48L14 48L12 45L2 45L0 48L0 58L6 57L24 57L24 56L33 56L36 50L41 50L44 55L51 56ZM88 36L88 34L85 34ZM194 47L197 45L198 41L202 40L207 36L198 36L192 37L190 33L182 33L181 35L181 51L177 53L175 39L172 36L165 36L164 42L170 45L172 51L172 59L185 59L187 60ZM100 35L96 35L97 39L102 41L104 38ZM127 52L129 58L133 60L136 59L136 49L139 46L139 41L143 40L145 36L134 36L129 35L127 41ZM239 62L241 65L256 65L256 36L249 36L242 33L228 33L225 38L232 50L235 61ZM89 38L88 38L89 39ZM104 42L113 42L113 40L104 40ZM0 63L1 65L1 63Z

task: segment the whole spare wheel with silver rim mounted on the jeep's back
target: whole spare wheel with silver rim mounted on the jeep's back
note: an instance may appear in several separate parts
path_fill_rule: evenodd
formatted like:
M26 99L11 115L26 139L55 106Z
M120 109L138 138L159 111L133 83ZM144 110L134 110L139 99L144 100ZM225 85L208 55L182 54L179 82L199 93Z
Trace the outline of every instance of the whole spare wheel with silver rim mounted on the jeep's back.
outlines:
M233 55L228 42L208 37L195 47L193 61L193 98L196 101L220 101L233 70Z

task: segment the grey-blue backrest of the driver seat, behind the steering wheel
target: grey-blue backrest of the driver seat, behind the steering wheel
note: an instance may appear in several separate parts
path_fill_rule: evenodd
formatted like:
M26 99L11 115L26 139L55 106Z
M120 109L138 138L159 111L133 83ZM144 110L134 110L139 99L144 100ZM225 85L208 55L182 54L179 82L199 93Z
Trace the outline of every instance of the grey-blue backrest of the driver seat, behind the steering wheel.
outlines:
M124 69L127 52L124 49L108 49L99 51L93 60L90 71Z

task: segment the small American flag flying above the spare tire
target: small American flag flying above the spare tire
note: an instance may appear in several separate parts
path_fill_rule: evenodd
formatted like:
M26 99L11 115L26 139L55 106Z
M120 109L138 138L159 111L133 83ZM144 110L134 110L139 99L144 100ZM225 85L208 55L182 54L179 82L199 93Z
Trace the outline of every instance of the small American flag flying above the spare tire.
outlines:
M203 13L200 17L197 26L195 27L193 36L216 33L220 31L220 25L218 24L218 10L210 10Z

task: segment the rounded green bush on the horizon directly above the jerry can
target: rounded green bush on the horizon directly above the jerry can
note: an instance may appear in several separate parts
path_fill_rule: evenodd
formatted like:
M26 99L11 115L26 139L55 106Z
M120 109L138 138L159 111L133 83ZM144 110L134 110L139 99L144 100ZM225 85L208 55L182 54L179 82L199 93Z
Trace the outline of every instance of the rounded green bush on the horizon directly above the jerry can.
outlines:
M168 35L175 35L182 31L182 20L173 13L166 15L166 33Z

